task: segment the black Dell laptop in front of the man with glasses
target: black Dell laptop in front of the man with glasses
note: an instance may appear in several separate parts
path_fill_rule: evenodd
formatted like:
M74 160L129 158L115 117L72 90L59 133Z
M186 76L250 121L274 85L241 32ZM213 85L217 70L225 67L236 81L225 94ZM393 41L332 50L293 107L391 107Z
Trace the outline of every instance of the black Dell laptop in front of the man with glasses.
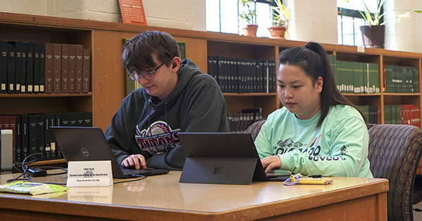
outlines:
M51 126L50 129L66 162L111 161L113 178L135 178L136 175L149 176L170 172L155 168L136 170L121 167L111 152L101 128Z

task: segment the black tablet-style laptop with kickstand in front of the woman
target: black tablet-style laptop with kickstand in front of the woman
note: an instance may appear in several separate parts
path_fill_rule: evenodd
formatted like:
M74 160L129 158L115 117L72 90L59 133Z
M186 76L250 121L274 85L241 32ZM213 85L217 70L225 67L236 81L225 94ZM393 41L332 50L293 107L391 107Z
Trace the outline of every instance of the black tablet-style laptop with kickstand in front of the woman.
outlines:
M289 174L266 174L249 133L179 133L186 154L179 182L250 185L284 181Z

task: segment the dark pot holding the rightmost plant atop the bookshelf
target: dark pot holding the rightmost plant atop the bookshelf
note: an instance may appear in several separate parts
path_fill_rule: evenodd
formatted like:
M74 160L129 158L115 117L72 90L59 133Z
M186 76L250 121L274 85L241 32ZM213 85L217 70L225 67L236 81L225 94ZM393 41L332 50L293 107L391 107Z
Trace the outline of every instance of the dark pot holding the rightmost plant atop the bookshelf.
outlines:
M359 29L365 48L384 48L385 25L363 25Z

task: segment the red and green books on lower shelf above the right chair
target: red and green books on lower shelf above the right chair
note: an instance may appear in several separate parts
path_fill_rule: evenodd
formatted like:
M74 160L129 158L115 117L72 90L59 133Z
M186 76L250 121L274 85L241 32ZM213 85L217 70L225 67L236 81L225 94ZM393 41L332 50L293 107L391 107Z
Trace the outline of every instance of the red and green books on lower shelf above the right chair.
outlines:
M384 105L384 123L421 127L421 109L415 105Z

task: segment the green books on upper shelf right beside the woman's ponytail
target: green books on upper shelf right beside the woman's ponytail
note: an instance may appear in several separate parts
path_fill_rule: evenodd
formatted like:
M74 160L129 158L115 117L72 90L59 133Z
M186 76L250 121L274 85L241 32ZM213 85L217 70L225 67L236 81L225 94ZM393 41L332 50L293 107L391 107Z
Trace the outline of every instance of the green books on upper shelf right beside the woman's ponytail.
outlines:
M328 60L341 93L380 93L378 64L337 60L336 55Z

